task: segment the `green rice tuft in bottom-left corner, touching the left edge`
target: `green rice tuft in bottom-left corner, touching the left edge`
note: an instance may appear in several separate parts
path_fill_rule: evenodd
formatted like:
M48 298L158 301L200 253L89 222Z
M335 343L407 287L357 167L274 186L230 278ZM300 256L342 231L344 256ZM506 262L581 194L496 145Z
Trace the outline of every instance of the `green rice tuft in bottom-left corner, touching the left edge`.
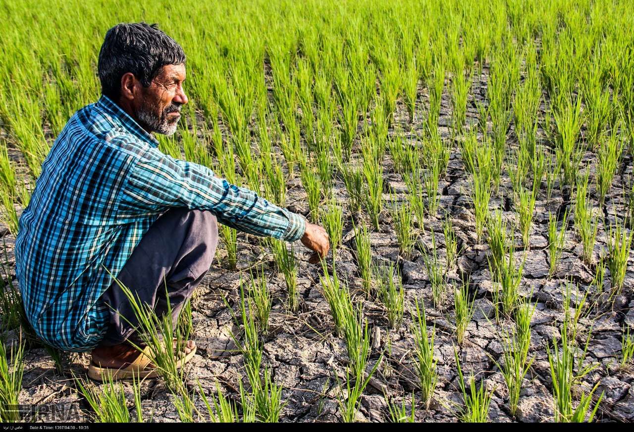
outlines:
M16 346L17 345L17 346ZM19 403L22 375L24 373L24 344L22 338L17 344L0 343L0 420L3 422L20 421Z

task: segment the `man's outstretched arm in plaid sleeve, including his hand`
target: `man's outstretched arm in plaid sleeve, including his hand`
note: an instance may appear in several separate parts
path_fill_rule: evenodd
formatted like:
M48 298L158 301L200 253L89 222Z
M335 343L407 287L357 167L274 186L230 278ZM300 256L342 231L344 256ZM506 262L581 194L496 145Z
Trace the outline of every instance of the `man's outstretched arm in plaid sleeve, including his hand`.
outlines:
M302 239L319 256L328 253L325 231L307 223L301 215L219 179L203 165L174 159L150 148L128 177L119 213L160 212L169 206L210 210L221 224L239 231L286 241ZM314 259L311 257L311 261Z

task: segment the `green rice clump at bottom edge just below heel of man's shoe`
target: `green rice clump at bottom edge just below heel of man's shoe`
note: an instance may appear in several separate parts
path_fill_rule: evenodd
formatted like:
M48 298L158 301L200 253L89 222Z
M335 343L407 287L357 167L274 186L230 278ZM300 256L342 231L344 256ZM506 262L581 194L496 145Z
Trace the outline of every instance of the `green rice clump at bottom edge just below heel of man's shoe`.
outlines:
M126 393L123 384L115 382L112 376L106 374L101 386L89 386L82 379L75 378L77 390L84 397L88 405L94 411L94 421L100 423L129 423L132 421L126 405ZM139 387L134 378L134 400L137 419L143 419ZM174 398L176 400L176 398Z

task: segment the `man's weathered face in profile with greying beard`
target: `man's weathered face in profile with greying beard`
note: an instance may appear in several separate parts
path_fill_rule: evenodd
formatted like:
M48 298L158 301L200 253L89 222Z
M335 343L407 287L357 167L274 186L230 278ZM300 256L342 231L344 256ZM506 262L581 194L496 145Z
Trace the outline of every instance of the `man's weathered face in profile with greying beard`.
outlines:
M141 97L135 98L136 117L150 132L171 135L181 118L181 106L188 102L183 91L185 66L165 65L149 87L139 86Z

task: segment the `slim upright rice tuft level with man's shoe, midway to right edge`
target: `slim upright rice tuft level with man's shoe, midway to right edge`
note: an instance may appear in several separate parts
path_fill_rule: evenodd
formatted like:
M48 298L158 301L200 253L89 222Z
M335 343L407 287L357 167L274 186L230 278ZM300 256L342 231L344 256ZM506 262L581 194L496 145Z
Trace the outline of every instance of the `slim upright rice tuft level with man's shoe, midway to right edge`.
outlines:
M420 384L421 398L425 407L429 409L429 404L434 396L434 389L438 382L437 359L434 359L434 339L436 338L436 328L432 327L431 336L427 334L427 317L425 316L425 305L418 307L418 299L415 300L416 316L414 317L414 350L416 357L414 364Z

